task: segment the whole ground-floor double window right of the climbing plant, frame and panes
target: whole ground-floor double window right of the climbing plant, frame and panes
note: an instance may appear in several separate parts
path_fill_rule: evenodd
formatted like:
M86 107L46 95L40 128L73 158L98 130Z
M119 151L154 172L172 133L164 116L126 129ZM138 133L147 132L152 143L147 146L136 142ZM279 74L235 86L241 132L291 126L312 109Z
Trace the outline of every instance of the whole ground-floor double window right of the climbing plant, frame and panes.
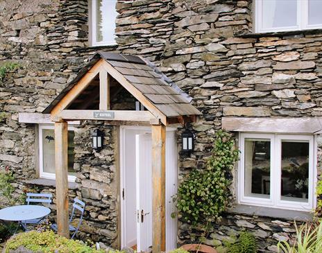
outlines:
M240 134L239 203L311 211L314 137Z

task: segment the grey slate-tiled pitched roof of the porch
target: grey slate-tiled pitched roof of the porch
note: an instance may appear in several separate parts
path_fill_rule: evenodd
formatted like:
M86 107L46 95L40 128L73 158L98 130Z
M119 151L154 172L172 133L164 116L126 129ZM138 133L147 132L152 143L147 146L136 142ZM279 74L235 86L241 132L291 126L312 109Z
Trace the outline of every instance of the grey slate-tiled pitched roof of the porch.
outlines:
M98 51L92 57L90 62L79 71L76 78L69 82L67 87L46 107L43 113L50 113L53 107L101 58L119 71L131 85L136 87L165 116L202 114L196 107L191 105L192 98L148 60L135 55L121 55L104 51Z

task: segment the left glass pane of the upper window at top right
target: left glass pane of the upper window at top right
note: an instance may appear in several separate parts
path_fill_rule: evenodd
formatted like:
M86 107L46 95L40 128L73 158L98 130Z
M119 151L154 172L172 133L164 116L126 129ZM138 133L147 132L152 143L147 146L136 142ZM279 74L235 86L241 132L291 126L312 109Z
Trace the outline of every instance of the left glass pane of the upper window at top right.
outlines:
M263 0L263 28L296 26L296 0Z

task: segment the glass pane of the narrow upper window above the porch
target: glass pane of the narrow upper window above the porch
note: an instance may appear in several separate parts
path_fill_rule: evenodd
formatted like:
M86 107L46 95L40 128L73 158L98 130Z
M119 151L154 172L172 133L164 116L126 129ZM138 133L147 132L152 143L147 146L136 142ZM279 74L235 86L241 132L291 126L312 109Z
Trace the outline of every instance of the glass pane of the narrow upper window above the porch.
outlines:
M115 42L116 0L97 0L96 4L96 42Z

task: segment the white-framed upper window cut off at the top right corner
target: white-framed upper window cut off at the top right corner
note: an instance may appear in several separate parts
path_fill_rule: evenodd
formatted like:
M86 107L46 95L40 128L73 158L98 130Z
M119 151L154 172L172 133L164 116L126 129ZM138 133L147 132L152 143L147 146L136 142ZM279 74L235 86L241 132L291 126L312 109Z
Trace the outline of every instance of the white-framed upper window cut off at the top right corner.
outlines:
M255 0L255 31L322 28L321 10L321 0Z

